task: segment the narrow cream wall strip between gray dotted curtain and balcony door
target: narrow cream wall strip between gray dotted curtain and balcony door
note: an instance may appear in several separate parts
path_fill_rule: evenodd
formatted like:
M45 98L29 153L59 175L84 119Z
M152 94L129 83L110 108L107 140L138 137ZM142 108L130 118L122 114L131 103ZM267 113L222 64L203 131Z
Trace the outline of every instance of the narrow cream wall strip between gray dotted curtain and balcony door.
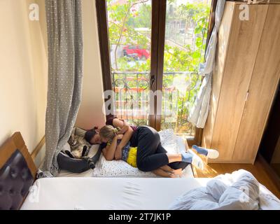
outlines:
M97 13L94 0L83 0L83 96L76 125L84 129L102 127L103 82L97 31Z

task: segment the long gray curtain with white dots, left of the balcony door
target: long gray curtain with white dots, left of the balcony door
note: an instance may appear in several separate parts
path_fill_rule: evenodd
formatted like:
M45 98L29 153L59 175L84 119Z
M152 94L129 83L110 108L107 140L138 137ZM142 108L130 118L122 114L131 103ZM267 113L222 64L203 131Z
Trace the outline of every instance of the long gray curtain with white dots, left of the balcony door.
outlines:
M48 103L43 172L56 175L80 106L83 78L81 0L45 0L48 29Z

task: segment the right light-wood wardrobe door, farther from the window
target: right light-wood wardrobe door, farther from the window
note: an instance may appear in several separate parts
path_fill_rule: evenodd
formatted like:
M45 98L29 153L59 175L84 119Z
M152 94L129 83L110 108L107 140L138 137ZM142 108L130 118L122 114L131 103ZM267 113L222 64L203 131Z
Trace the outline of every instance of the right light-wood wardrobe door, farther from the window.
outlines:
M255 161L280 73L280 5L269 5L233 160Z

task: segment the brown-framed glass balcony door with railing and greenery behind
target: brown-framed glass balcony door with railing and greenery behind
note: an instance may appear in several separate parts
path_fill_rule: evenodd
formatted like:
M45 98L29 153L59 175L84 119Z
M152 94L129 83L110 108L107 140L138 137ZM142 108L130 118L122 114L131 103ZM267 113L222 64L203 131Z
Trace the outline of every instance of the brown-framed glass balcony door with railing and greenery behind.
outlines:
M104 90L113 90L106 115L197 139L187 118L201 83L208 1L96 3Z

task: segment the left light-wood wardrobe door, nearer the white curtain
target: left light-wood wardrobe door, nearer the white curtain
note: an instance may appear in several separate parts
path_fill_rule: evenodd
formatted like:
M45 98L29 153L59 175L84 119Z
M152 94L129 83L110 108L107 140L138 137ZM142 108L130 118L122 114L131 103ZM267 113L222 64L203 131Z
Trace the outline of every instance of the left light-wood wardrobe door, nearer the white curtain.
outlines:
M265 24L267 7L267 5L251 5L249 6L249 20L240 20L239 15L242 10L239 9L239 4L235 4L211 141L211 148L217 148L220 151L220 157L218 160L209 160L209 162L235 162L232 156Z

